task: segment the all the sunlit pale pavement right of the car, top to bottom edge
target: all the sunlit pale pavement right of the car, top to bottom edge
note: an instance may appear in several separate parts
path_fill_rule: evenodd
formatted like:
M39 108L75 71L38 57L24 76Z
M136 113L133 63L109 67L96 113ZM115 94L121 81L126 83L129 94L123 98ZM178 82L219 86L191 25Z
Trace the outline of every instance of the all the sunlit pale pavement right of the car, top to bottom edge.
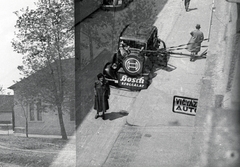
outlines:
M190 12L186 12L183 1L168 1L155 23L159 37L167 47L186 44L195 25L201 24L201 31L207 38L210 5L209 0L192 0ZM208 45L207 41L202 45ZM184 49L179 52L189 53ZM173 70L157 71L149 88L137 97L127 122L138 127L141 140L128 166L189 166L192 136L195 130L202 131L202 128L194 128L195 116L172 112L174 95L200 98L206 59L195 62L189 59L187 56L170 57L169 66L174 67Z

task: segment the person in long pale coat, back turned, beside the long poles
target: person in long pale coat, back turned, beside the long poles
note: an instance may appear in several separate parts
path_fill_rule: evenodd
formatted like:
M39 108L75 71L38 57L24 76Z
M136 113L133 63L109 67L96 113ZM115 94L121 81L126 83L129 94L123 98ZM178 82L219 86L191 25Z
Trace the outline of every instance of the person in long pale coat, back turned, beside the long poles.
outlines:
M201 50L201 43L204 39L204 35L203 32L200 31L200 28L201 28L200 24L197 24L196 30L190 33L191 38L187 44L187 50L191 52L190 61L194 61L195 56Z

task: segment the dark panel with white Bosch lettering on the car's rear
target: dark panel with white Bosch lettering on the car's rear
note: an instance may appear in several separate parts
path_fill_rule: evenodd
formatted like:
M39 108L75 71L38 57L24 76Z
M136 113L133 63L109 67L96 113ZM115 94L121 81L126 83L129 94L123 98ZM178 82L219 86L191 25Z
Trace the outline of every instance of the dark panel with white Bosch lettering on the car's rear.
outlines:
M148 76L130 77L125 73L118 73L118 85L130 90L146 89L148 83Z

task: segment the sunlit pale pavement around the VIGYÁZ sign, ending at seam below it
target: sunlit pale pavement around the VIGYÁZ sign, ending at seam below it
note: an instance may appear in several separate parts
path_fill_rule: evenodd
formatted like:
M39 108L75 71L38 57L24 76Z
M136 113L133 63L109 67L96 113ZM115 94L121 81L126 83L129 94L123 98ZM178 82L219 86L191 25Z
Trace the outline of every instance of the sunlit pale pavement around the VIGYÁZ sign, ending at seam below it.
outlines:
M197 23L201 24L201 31L207 36L210 10L209 0L193 0L190 12L186 12L182 1L168 1L158 16L155 25L159 26L159 37L167 47L188 43L190 32ZM195 9L196 8L196 9ZM193 10L194 9L194 10ZM171 14L169 14L171 13ZM168 16L168 19L166 19ZM206 38L206 37L205 37ZM202 45L208 45L206 41ZM202 48L200 52L203 52ZM188 53L185 49L175 52ZM206 59L190 62L188 56L171 55L169 67L172 71L156 71L152 84L147 90L141 91L136 103L127 117L127 122L138 126L194 126L195 117L172 112L173 96L191 98L200 97L201 79L204 77Z

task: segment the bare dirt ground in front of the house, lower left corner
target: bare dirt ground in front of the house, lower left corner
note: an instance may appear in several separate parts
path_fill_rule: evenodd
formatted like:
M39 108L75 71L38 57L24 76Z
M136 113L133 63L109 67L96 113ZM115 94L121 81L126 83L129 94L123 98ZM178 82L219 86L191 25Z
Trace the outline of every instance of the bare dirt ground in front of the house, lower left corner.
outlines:
M67 143L68 148L65 147ZM0 167L51 166L63 149L75 151L75 142L72 139L1 135Z

